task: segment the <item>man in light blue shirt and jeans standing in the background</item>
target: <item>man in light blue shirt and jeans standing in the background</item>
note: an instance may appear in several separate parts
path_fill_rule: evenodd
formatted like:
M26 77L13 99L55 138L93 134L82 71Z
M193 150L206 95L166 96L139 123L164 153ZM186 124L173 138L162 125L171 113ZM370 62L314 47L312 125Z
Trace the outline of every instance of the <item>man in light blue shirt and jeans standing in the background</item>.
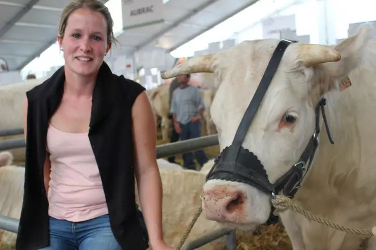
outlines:
M170 113L173 114L173 126L182 141L201 137L200 119L205 105L200 90L188 85L189 74L179 75L177 79L180 86L173 92L170 109ZM201 167L208 161L203 150L197 150L193 154ZM184 167L196 170L193 154L183 154Z

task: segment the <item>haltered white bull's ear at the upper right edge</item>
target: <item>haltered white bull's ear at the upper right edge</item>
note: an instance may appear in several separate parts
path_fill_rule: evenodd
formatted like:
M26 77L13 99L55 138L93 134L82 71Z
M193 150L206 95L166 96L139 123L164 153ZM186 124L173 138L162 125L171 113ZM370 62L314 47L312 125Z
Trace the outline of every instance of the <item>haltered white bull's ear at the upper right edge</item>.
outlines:
M370 56L370 53L367 53L368 48L370 48L367 44L372 32L373 27L371 25L363 24L358 28L355 35L334 46L334 49L341 55L341 59L338 62L323 65L331 77L342 81L350 72L359 68L365 62L364 57Z

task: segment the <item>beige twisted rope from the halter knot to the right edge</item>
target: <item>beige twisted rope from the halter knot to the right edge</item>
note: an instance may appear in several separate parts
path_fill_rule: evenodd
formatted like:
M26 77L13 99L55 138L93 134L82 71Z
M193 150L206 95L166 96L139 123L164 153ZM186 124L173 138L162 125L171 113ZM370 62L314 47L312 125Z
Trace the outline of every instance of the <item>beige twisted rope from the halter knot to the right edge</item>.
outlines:
M366 236L369 236L369 237L376 235L376 226L373 226L371 230L363 230L363 229L356 229L356 228L351 228L351 227L347 227L347 226L342 226L342 225L333 223L329 220L322 219L322 218L312 214L311 212L294 205L290 198L283 196L283 195L274 195L271 198L271 203L276 209L284 211L287 208L291 208L295 212L303 214L307 219L319 222L321 224L324 224L326 226L329 226L331 228L334 228L334 229L337 229L337 230L340 230L340 231L343 231L343 232L354 233L354 234L357 234L357 235L366 235Z

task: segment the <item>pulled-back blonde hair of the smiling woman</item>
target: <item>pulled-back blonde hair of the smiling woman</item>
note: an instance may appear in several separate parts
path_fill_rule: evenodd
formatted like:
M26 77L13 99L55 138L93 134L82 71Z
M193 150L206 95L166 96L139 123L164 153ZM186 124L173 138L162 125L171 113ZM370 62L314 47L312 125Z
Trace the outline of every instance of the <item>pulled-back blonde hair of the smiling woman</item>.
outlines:
M63 39L64 37L66 21L68 20L69 15L81 8L88 8L89 10L92 10L94 12L102 13L106 19L107 24L107 44L110 44L110 42L117 42L113 32L114 21L112 20L110 11L99 0L73 0L64 8L61 13L59 24L59 35L61 39Z

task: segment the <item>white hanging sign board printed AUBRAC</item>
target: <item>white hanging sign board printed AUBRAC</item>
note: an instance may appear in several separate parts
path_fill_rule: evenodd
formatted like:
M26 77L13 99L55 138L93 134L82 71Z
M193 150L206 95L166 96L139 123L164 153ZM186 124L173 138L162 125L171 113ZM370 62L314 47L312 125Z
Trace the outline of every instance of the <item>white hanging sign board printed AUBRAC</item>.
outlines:
M122 0L125 30L163 22L163 0Z

